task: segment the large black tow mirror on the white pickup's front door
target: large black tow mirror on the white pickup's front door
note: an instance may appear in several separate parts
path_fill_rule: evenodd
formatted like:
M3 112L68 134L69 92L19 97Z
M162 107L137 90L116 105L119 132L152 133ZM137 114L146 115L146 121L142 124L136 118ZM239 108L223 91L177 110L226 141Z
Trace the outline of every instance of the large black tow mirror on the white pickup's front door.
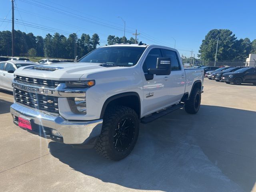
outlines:
M158 57L156 69L148 69L148 74L170 75L171 73L171 58Z

